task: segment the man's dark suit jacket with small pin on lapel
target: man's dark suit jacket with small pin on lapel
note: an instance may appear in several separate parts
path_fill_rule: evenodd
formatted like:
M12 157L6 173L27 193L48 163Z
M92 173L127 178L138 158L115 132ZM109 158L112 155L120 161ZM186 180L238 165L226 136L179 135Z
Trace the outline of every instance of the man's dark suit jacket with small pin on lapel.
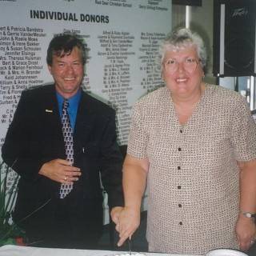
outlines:
M110 207L122 206L122 154L115 129L114 110L82 91L74 126L74 166L81 169L82 176L67 197L74 212L87 216L92 211L89 215L95 222L102 222L102 212L94 213L94 206L102 208L99 176ZM26 219L42 218L43 222L53 218L60 183L38 171L45 162L66 159L54 85L22 92L2 146L2 158L20 175L15 222L22 226Z

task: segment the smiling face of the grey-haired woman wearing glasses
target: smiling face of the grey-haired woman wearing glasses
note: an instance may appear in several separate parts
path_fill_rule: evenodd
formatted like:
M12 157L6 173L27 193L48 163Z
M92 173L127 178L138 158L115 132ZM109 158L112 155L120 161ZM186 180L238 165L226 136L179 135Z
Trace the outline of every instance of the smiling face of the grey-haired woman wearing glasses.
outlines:
M173 95L189 98L198 94L203 76L195 46L166 52L162 62L162 78Z

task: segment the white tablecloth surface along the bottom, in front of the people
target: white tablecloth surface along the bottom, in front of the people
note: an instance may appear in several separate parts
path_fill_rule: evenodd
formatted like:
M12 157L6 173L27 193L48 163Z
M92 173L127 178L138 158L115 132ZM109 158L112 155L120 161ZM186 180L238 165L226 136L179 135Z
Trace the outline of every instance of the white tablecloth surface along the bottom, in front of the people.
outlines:
M122 252L111 250L50 249L10 245L0 247L0 256L114 256L114 254L122 254ZM188 254L143 254L146 256L190 256Z

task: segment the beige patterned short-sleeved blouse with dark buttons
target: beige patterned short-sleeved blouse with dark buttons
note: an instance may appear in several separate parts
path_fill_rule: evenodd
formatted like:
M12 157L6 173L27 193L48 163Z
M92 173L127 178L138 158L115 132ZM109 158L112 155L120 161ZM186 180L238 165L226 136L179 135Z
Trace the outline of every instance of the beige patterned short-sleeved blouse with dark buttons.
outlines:
M134 106L128 154L148 158L150 251L238 248L236 161L256 158L256 127L238 93L206 85L185 126L162 87Z

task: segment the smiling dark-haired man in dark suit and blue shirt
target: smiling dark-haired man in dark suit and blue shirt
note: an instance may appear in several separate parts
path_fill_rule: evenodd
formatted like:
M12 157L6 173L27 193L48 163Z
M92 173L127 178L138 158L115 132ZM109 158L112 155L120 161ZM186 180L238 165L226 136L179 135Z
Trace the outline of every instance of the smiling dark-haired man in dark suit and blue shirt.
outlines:
M21 177L14 222L34 246L97 248L101 178L110 208L122 205L114 110L81 89L86 53L79 38L54 37L46 61L54 85L22 92L2 146L3 160Z

